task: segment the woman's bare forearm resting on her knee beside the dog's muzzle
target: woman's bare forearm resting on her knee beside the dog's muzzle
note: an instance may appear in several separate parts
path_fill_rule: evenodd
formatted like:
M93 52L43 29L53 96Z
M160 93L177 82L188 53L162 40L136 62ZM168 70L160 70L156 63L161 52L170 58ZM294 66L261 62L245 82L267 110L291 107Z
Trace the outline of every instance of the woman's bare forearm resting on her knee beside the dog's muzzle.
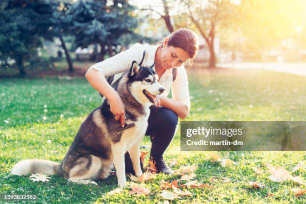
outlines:
M162 107L166 107L173 110L177 114L177 116L181 119L187 117L188 108L181 101L168 98L164 95L160 95L158 97L160 99L160 105Z

